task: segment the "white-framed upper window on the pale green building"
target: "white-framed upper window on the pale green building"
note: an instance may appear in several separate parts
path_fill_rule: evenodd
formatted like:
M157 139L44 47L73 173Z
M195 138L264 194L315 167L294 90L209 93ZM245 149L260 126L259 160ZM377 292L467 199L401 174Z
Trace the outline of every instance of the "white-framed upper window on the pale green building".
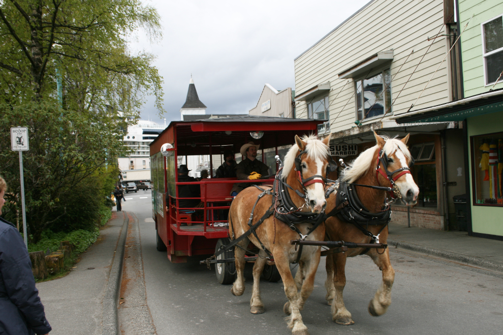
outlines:
M485 84L494 84L503 71L503 16L482 23Z

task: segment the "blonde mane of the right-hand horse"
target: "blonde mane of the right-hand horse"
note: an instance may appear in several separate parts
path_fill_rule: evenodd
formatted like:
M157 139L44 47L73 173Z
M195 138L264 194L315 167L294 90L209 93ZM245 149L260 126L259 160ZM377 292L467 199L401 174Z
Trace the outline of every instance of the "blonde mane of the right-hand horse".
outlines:
M396 150L403 152L405 157L411 159L411 153L408 151L407 146L398 139L390 139L386 136L381 136L386 144L383 147L383 153L386 155L393 154ZM342 176L342 181L348 183L354 183L358 178L364 176L367 171L369 171L370 165L372 164L372 159L376 150L379 150L379 146L375 145L368 148L360 154L351 164L350 168L344 172Z

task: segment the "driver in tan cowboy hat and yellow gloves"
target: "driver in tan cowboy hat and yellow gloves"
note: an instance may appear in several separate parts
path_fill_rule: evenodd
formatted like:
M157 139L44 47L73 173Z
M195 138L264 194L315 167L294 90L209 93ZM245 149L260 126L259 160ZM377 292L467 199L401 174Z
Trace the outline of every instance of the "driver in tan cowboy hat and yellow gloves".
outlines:
M238 180L256 180L269 174L269 166L257 159L257 150L260 145L253 142L244 144L239 152L246 157L236 166ZM236 183L231 190L231 195L236 196L246 187L260 185L261 183Z

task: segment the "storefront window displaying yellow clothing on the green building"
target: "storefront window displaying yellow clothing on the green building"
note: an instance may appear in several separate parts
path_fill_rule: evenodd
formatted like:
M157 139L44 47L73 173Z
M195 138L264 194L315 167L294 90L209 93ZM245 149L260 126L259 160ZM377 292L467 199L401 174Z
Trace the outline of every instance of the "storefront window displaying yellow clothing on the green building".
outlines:
M471 137L474 205L503 206L503 132Z

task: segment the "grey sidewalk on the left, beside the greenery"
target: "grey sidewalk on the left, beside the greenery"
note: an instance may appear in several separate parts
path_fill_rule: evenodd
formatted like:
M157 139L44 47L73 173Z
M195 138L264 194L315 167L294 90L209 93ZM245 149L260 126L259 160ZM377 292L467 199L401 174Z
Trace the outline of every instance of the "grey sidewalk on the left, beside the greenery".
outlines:
M127 212L113 211L70 274L37 284L51 335L117 333L117 284L128 222Z

